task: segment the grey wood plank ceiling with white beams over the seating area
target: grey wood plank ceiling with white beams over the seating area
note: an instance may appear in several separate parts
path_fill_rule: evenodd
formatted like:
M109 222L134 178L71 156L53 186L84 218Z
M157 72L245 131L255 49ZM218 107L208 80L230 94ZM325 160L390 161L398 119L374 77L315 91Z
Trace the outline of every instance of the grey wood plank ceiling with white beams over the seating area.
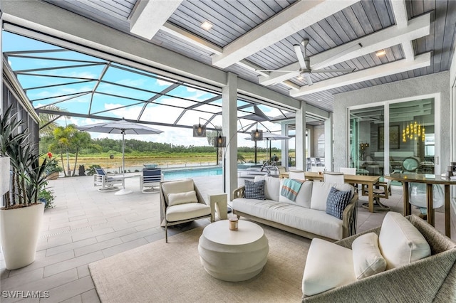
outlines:
M167 1L176 8L158 0L45 1L328 112L333 94L449 70L455 51L456 1L451 0ZM341 9L328 14L336 4ZM145 38L140 26L145 16L166 18L147 28L152 38ZM299 26L313 18L318 20ZM212 24L208 31L201 27L204 21ZM133 25L140 30L132 33ZM309 38L311 68L355 72L311 73L309 86L299 73L276 82L277 73L257 71L295 70L293 45L303 38ZM375 50L382 49L385 55L378 57Z

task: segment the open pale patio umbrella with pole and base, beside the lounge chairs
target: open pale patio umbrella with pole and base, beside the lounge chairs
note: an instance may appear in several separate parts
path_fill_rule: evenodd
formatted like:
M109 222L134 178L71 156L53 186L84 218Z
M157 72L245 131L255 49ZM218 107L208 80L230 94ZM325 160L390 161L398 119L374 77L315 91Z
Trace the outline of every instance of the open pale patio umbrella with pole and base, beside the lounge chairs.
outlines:
M122 174L125 178L125 134L160 134L163 131L154 129L152 127L145 127L138 123L128 122L125 119L118 121L101 122L90 124L86 126L76 127L79 130L86 132L104 132L106 134L122 134ZM115 195L126 195L133 193L133 191L125 189L125 182L123 188L116 192Z

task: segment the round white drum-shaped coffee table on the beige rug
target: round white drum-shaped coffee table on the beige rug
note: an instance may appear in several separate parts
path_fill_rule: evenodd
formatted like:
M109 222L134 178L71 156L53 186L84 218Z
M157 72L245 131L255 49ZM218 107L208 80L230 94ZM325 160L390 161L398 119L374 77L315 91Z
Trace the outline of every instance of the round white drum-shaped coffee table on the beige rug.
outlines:
M244 281L261 272L269 244L261 226L239 220L238 230L229 230L229 220L204 228L199 238L199 260L204 270L219 280Z

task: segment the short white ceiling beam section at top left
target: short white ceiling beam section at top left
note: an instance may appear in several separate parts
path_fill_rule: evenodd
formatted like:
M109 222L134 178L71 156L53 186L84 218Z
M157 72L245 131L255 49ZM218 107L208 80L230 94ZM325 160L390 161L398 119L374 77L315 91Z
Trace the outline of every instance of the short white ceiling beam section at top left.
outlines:
M142 0L130 18L130 32L148 40L180 6L182 0Z

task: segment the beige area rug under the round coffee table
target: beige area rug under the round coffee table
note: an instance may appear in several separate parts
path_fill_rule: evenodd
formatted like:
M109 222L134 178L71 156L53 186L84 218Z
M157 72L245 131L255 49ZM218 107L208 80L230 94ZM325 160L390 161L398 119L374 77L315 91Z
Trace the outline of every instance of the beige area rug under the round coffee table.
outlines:
M207 274L198 255L202 228L90 263L90 275L104 303L301 302L311 240L261 226L269 240L268 260L259 275L244 282Z

